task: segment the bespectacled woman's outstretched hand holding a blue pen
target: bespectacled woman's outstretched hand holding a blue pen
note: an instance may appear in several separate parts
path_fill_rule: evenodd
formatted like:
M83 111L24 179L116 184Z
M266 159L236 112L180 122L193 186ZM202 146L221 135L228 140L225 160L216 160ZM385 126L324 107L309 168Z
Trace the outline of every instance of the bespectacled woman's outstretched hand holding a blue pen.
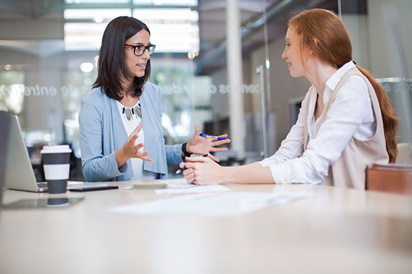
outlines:
M227 151L227 147L218 148L218 146L222 144L229 144L230 139L218 140L213 137L201 137L200 133L200 125L196 123L194 126L194 135L192 139L189 140L186 144L187 152L191 154L199 154L204 155L208 154L208 156L213 159L214 161L218 162L219 159L215 156L211 155L209 152L211 151ZM227 134L219 135L218 137L227 138Z

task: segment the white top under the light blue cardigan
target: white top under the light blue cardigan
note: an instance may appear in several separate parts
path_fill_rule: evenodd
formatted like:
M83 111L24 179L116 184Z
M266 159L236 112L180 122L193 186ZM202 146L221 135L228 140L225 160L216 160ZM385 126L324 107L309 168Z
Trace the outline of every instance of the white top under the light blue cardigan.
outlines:
M139 125L140 122L142 122L142 118L137 116L137 114L132 114L131 119L127 120L126 114L123 113L123 104L120 104L119 101L117 101L118 104L118 109L120 112L120 117L122 118L123 126L125 127L127 137L132 134L133 130L136 129L137 125ZM137 107L137 104L133 107ZM139 137L137 137L135 144L140 144L144 143L144 131L143 127L142 130L139 131ZM140 151L144 152L144 147L140 149ZM132 168L133 168L133 173L135 173L135 176L130 178L130 180L153 180L156 179L156 173L153 173L151 171L147 171L143 169L143 160L139 158L131 158L130 159L132 163Z

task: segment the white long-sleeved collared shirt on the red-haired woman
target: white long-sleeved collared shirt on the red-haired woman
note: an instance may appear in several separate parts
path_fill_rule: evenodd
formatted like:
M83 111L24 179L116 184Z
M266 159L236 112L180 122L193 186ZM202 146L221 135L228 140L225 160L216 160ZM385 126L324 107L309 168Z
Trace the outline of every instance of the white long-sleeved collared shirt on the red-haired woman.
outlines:
M329 100L342 76L354 66L354 63L349 61L326 81L324 104ZM317 99L316 89L314 91L306 93L298 120L286 139L282 141L280 149L273 156L258 162L263 167L270 166L276 183L323 182L329 166L341 156L351 137L359 140L373 137L376 127L375 117L368 87L362 77L357 75L349 77L337 93L325 121L321 124L320 119L315 120L314 116ZM307 100L310 100L308 109L306 109ZM308 111L307 121L305 121L306 111ZM308 146L303 153L306 122L309 137Z

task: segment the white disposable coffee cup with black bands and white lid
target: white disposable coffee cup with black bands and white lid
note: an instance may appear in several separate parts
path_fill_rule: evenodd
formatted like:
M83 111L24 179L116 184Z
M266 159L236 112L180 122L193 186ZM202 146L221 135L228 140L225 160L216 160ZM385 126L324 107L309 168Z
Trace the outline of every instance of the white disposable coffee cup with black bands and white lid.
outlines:
M70 153L67 144L44 146L40 153L43 158L44 177L49 193L64 193L70 173Z

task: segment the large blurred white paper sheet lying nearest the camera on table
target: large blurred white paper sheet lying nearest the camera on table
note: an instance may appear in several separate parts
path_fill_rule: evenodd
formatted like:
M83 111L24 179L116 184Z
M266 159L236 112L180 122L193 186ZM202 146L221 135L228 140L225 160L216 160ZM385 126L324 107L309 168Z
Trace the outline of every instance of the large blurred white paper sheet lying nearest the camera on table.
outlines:
M308 197L306 193L225 192L191 194L140 204L109 208L111 213L139 216L216 216L230 217Z

